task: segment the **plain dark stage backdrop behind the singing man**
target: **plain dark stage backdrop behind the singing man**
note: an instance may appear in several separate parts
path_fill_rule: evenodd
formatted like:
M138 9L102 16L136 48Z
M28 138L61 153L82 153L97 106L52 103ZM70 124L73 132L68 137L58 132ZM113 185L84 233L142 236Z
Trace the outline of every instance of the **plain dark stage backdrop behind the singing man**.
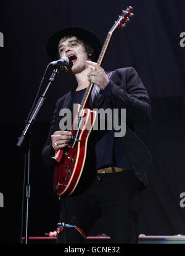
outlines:
M136 131L153 155L149 188L143 192L139 233L185 234L185 31L184 0L1 1L1 167L0 242L19 243L24 152L16 147L25 127L44 70L49 63L46 42L61 27L79 25L105 37L122 9L132 6L134 17L110 42L102 65L105 70L134 67L152 104L152 122ZM47 78L47 76L46 76ZM46 140L55 101L73 86L73 77L60 72L49 89L33 125L30 174L30 236L44 236L58 222L53 170L46 168L41 150ZM41 93L46 86L45 80ZM67 85L67 86L66 86ZM104 233L101 223L91 234Z

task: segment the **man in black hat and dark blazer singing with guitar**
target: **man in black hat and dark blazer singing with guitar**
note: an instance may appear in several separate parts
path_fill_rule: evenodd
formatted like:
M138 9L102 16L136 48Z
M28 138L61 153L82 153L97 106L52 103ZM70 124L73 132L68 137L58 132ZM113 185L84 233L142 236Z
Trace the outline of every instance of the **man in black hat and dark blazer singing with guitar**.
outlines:
M134 125L149 124L149 96L134 68L105 72L96 63L101 49L97 36L81 27L63 28L47 43L49 59L68 57L70 63L64 70L75 76L76 85L55 105L43 148L46 165L55 166L55 153L67 147L71 139L72 133L59 125L60 110L73 111L73 104L81 103L89 82L94 84L88 99L92 109L126 109L125 136L115 136L113 128L91 131L83 175L75 191L60 200L57 243L84 242L98 218L104 221L102 233L110 236L110 242L138 242L141 192L147 186L146 171L152 159L134 133ZM105 117L104 121L109 120Z

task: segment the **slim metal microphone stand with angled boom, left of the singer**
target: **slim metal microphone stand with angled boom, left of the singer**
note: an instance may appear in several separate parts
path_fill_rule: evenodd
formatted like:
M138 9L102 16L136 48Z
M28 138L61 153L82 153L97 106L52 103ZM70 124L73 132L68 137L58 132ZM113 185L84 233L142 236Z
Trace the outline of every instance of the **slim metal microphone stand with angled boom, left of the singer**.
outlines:
M47 65L47 68L49 67L49 65ZM46 70L47 70L46 68ZM46 71L45 71L46 73ZM44 74L45 74L44 73ZM55 75L59 73L59 69L57 67L54 68L51 77L49 78L49 83L47 84L47 87L44 91L43 94L41 94L41 97L39 98L35 109L33 110L33 112L30 115L30 118L28 120L28 122L26 123L25 129L23 130L19 141L17 142L17 147L22 147L23 146L23 142L25 141L25 138L28 137L28 142L26 142L26 149L25 149L25 171L27 169L27 185L26 185L26 200L27 200L27 207L26 207L26 223L25 223L25 244L28 244L28 212L29 212L29 199L30 199L30 152L31 152L31 145L32 145L32 141L31 141L31 126L33 125L33 123L35 122L36 116L38 115L38 112L41 108L41 105L43 105L46 93L49 89L49 86L51 85L51 83L54 81ZM44 80L44 77L43 77ZM41 83L43 83L43 80L41 81ZM24 176L25 179L25 176ZM24 190L23 190L24 191ZM22 202L22 209L23 209L23 202ZM22 241L22 234L21 234L21 241Z

